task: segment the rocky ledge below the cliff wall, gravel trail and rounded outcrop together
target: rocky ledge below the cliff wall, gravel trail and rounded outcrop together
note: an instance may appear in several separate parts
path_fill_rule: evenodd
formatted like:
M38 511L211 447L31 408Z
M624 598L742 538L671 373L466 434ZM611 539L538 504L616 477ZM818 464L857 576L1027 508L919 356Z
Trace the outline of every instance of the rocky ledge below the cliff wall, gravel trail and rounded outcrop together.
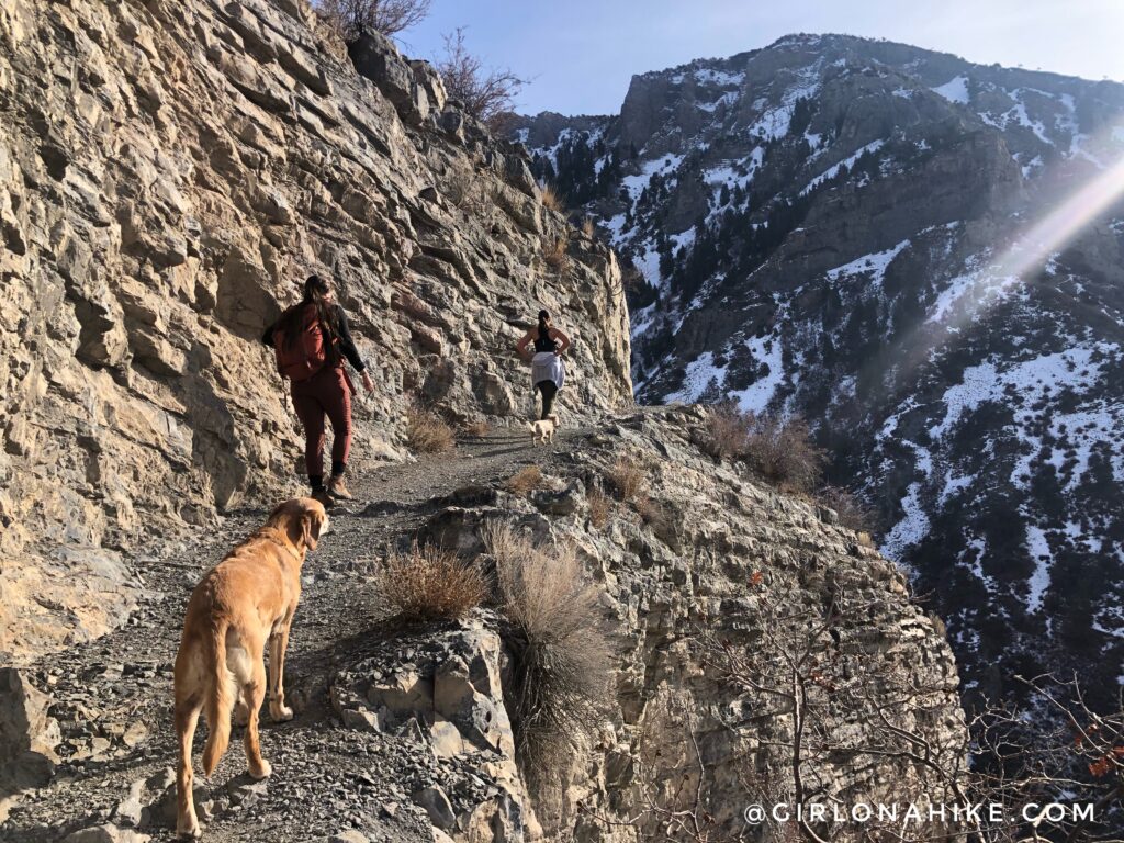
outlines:
M695 444L704 428L698 408L647 408L566 428L553 448L498 429L357 477L371 502L337 507L303 569L285 667L297 716L262 731L273 776L245 776L235 741L210 781L197 778L205 840L636 843L692 840L696 823L709 840L782 840L792 824L750 825L745 808L797 794L957 804L945 773L963 772L967 734L941 623L832 510L707 456ZM622 463L635 483L619 480ZM514 487L531 465L537 486ZM0 840L172 839L183 604L260 518L227 518L228 535L193 528L192 550L151 564L129 627L9 677L0 704L15 716L0 718L0 752L35 790ZM516 749L526 642L504 605L405 625L379 588L388 551L418 540L488 570L502 552L486 536L500 525L547 563L577 560L609 653L600 713L553 733L562 760L546 777ZM46 711L31 686L49 689ZM816 830L833 841L871 833Z

